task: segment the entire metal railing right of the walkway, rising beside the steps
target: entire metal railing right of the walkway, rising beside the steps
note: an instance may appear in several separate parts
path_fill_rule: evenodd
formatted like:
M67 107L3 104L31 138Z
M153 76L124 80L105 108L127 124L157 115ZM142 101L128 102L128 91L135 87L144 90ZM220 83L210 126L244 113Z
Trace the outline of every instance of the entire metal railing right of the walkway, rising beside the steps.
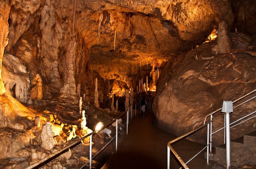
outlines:
M246 94L246 95L244 95L244 96L238 98L237 100L235 100L235 101L232 102L232 103L236 103L236 102L238 102L238 101L244 99L245 97L247 97L247 96L249 96L249 95L255 93L255 91L256 91L256 89L253 90L253 91L251 91L250 93L248 93L248 94ZM241 105L244 105L245 103L247 103L247 102L249 102L249 101L251 101L251 100L253 100L253 99L255 99L255 98L256 98L256 96L253 96L252 98L247 99L246 101L244 101L244 102L240 103L239 105L235 106L234 109L237 108L237 107L239 107L239 106L241 106ZM210 152L212 151L212 135L215 134L215 133L217 133L217 132L219 132L219 131L221 131L221 130L223 130L223 129L224 129L224 130L226 129L226 125L225 125L225 123L224 123L224 127L222 127L221 129L218 129L218 130L212 132L212 122L213 122L212 119L213 119L213 114L219 112L220 110L222 110L222 108L220 108L220 109L218 109L218 110L216 110L216 111L214 111L214 112L208 114L208 115L205 117L205 119L204 119L204 125L198 127L197 129L194 129L193 131L190 131L189 133L186 133L186 134L184 134L184 135L182 135L182 136L180 136L180 137L178 137L178 138L176 138L176 139L174 139L174 140L172 140L172 141L170 141L170 142L168 142L168 144L167 144L167 169L170 169L170 150L172 151L172 153L174 154L174 156L177 158L177 160L181 163L181 165L183 166L183 168L189 169L186 164L188 164L190 161L192 161L198 154L200 154L205 148L207 148L207 164L209 163L209 151L210 151ZM226 113L226 112L225 112L225 113ZM256 115L253 116L253 117L248 118L249 116L251 116L251 115L253 115L253 114L255 114L255 113L256 113L256 111L253 111L252 113L249 113L249 114L245 115L244 117L242 117L242 118L240 118L240 119L238 119L238 120L236 120L236 121L230 123L229 129L232 128L232 127L235 127L235 126L237 126L237 125L240 125L241 123L244 123L244 122L246 122L246 121L248 121L248 120L250 120L250 119L252 119L252 118L255 118ZM210 117L210 121L206 123L206 119L207 119L208 117ZM247 118L247 119L246 119L246 118ZM241 120L243 120L243 119L245 119L245 120L242 121L242 122L240 122L240 123L238 123L238 124L235 124L235 123L237 123L237 122L239 122L239 121L241 121ZM224 121L226 121L226 120L229 120L229 119L226 119L226 116L224 116ZM235 125L234 125L234 124L235 124ZM179 157L179 155L177 154L177 152L175 152L175 150L172 148L171 144L173 144L174 142L177 142L178 140L180 140L180 139L182 139L182 138L188 137L188 135L193 134L193 133L195 133L196 131L199 131L199 130L203 129L205 126L207 126L207 145L206 145L202 150L200 150L199 153L197 153L197 154L196 154L195 156L193 156L190 160L188 160L188 162L185 163L185 162L181 159L181 157ZM225 143L225 140L226 140L226 130L224 131L224 143ZM227 150L227 151L229 151L229 150ZM230 154L230 152L229 152L229 154ZM229 164L228 164L228 162L227 162L227 168L229 167L228 165L229 165Z

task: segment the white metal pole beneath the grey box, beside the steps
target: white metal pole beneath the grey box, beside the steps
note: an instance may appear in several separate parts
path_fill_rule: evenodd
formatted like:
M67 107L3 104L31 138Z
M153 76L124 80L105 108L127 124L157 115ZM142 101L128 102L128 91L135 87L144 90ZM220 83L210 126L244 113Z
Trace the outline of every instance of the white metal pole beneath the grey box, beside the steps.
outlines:
M226 116L226 166L230 169L230 124L229 112L225 112Z

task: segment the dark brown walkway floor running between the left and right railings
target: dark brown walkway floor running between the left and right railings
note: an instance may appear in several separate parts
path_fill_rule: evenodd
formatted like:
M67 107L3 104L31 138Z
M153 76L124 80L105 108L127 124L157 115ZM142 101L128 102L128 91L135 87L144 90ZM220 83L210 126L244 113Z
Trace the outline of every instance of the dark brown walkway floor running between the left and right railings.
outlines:
M167 142L176 138L153 125L153 116L136 117L129 121L128 135L125 135L114 153L101 169L166 169ZM204 145L182 140L174 144L175 150L184 160L189 160ZM179 163L171 154L171 169L178 169ZM207 167L204 153L188 164L190 169Z

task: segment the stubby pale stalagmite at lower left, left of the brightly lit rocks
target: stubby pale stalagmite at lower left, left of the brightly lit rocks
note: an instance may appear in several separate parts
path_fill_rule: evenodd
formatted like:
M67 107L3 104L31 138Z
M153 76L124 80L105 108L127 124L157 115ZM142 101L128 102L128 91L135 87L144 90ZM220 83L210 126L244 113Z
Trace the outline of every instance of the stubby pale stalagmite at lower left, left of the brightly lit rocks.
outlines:
M45 125L42 127L41 133L42 145L41 147L47 150L50 150L54 146L54 139L53 139L53 131L51 122L46 122Z

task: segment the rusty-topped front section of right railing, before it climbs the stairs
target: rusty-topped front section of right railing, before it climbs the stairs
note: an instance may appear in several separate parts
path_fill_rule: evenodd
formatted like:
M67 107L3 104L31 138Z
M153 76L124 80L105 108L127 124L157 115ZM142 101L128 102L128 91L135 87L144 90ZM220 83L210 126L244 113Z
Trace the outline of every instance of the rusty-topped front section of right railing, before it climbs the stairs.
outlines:
M186 134L183 134L183 135L181 135L180 137L177 137L177 138L175 138L175 139L173 139L173 140L171 140L171 141L168 142L168 144L167 144L167 169L170 169L170 150L171 150L171 152L174 154L174 156L177 158L177 160L181 163L181 165L182 165L185 169L189 169L188 166L186 165L186 163L181 159L181 157L179 157L178 153L174 150L174 148L172 148L171 144L173 144L174 142L179 141L179 140L182 139L182 138L188 137L190 134L193 134L193 133L195 133L196 131L201 130L201 129L204 128L205 126L207 126L207 130L208 130L208 129L209 129L209 123L211 123L211 122L212 122L212 121L209 121L208 123L206 123L206 124L204 124L204 125L202 125L202 126L200 126L200 127L197 127L196 129L194 129L194 130L192 130L192 131L190 131L190 132L188 132L188 133L186 133ZM208 139L208 141L209 141L209 139ZM209 144L210 144L210 143L208 143L205 148L207 148L207 147L209 146ZM204 150L205 148L203 148L203 150ZM201 151L203 151L203 150L201 150ZM198 154L197 154L197 155L198 155ZM194 156L194 157L196 157L196 156ZM194 157L193 157L193 158L194 158ZM193 160L193 158L190 159L188 162L190 162L191 160ZM188 163L188 162L187 162L187 163Z

